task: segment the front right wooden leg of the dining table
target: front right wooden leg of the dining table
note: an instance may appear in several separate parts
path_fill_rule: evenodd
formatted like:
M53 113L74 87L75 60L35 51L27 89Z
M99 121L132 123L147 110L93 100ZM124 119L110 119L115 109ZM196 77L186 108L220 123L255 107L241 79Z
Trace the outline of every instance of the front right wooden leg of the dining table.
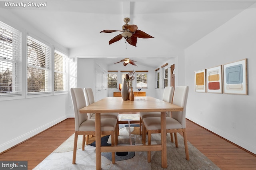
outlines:
M166 112L161 112L162 168L167 168Z

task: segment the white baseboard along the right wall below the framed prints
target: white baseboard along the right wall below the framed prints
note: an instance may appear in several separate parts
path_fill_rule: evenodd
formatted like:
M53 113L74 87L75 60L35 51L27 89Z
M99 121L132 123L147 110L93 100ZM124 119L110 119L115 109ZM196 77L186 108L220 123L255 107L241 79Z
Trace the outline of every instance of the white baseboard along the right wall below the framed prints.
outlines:
M206 123L203 123L201 121L193 119L192 117L186 117L186 119L188 119L189 121L195 123L196 125L204 128L204 129L212 132L213 134L220 136L224 140L227 140L228 142L238 146L239 148L245 150L246 152L249 152L250 154L253 154L254 156L256 156L256 147L252 146L251 144L248 144L246 141L236 138L235 136L232 136L230 134L227 134L226 132L224 132L218 128L212 127L211 125L208 125Z

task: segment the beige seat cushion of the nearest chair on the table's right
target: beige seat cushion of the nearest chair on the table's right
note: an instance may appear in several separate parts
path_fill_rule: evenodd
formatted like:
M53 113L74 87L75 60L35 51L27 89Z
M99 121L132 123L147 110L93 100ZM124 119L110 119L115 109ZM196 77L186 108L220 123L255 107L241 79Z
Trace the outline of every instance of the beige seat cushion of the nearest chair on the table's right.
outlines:
M161 118L160 117L146 117L143 119L144 125L148 130L160 130ZM176 119L166 117L166 129L182 128L182 125Z

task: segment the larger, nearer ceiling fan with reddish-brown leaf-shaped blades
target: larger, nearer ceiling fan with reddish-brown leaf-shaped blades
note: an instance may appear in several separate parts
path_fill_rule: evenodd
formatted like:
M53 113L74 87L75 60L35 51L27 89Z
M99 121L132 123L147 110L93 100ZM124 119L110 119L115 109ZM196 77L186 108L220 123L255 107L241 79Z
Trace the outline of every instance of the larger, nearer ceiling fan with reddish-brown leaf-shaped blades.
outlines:
M103 30L101 32L105 33L112 33L112 32L123 32L122 34L119 34L118 36L115 36L112 38L108 43L109 45L121 40L123 37L126 39L126 41L130 44L136 47L137 38L154 38L145 32L138 30L138 26L136 25L129 25L127 24L130 22L130 18L124 18L124 22L126 24L123 25L123 30Z

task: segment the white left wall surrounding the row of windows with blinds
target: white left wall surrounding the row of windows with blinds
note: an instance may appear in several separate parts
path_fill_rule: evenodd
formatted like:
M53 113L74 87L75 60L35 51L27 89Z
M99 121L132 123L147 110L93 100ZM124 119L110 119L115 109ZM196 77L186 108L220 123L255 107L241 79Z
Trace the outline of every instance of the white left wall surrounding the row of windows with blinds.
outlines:
M1 8L0 20L22 32L22 96L15 100L0 101L0 152L42 132L43 130L63 121L68 117L66 112L70 110L68 94L45 97L28 98L26 91L26 49L27 33L36 36L56 47L62 52L68 53L68 49L62 47L25 21L20 20L8 10Z

